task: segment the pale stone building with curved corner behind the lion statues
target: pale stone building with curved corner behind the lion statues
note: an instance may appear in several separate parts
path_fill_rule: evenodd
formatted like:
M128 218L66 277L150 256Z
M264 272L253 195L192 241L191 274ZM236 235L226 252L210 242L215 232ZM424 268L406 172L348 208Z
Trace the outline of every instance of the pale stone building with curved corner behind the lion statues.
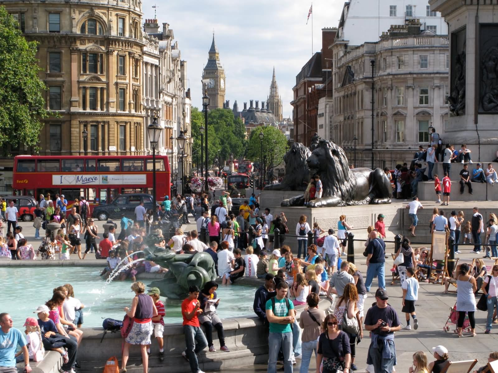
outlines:
M338 38L331 46L337 57L332 138L350 160L356 148L356 167L393 168L430 144L431 126L442 132L449 40L421 28L410 19L392 25L378 42L349 47Z

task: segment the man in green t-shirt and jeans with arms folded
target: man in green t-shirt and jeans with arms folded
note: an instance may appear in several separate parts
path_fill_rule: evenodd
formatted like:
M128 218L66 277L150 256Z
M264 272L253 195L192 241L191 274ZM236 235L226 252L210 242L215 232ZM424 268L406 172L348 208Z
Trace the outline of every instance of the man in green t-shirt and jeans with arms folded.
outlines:
M282 348L284 373L292 373L292 328L294 304L287 298L289 286L280 281L276 286L276 296L266 302L266 319L270 324L268 337L268 373L276 373L278 351Z

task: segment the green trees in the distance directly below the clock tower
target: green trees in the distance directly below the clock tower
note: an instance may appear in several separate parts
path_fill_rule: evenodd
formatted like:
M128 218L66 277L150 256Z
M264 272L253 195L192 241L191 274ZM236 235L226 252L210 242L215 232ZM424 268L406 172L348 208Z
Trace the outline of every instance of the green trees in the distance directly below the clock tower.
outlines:
M197 107L192 108L192 159L200 159L201 135L200 127L204 127L204 113ZM203 133L204 134L204 133ZM232 110L214 109L208 111L208 157L209 165L221 156L227 161L244 156L246 148L246 128L240 118L235 118ZM203 139L205 141L205 139ZM206 157L206 155L204 155Z

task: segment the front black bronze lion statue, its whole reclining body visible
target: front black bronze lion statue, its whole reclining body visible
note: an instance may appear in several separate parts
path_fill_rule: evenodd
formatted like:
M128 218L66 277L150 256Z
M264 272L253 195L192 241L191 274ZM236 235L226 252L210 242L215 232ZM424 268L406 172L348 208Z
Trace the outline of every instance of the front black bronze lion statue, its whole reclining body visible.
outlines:
M323 185L322 197L310 201L308 207L391 203L392 187L384 172L350 169L344 150L331 141L320 140L306 163L310 176L319 175ZM281 202L281 206L302 205L302 195Z

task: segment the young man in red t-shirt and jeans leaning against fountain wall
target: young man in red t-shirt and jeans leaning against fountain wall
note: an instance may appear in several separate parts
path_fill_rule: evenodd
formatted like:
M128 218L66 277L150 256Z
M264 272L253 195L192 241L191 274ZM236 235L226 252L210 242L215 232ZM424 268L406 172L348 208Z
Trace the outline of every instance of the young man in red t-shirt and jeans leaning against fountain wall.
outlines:
M200 291L196 285L190 286L188 297L182 302L183 334L185 335L185 345L187 345L186 350L182 352L182 356L188 360L192 373L204 373L199 369L196 354L208 346L208 341L199 327L199 319L197 318L202 313L199 308L201 303L197 299Z

